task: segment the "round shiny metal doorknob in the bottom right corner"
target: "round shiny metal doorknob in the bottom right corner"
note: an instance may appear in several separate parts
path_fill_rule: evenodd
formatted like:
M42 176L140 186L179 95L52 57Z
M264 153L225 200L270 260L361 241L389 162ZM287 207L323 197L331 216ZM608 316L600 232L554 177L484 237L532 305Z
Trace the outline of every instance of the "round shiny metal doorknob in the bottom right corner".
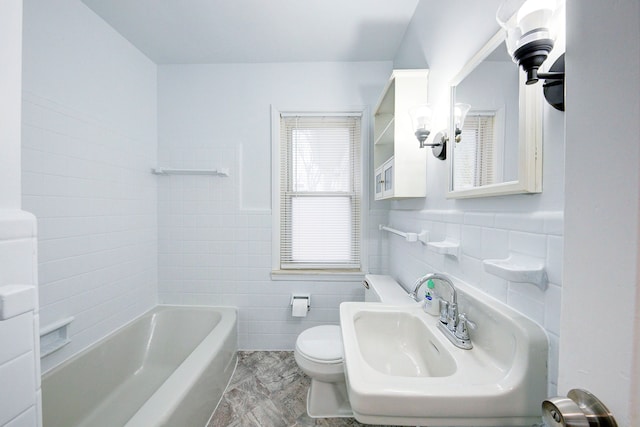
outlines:
M607 407L587 390L573 389L567 397L542 402L542 418L549 427L618 427Z

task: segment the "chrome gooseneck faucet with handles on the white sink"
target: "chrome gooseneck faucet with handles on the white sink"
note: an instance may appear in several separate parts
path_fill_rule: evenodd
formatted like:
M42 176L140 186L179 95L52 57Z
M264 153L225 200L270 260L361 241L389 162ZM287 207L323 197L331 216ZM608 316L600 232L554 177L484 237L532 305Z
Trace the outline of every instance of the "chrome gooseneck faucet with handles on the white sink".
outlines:
M420 286L429 280L444 282L451 288L451 301L440 298L440 322L438 323L438 328L456 347L466 350L473 348L469 337L469 329L474 329L476 324L469 320L465 313L458 314L458 292L449 277L439 273L426 274L416 280L413 285L413 292L409 296L414 301L420 301L418 290Z

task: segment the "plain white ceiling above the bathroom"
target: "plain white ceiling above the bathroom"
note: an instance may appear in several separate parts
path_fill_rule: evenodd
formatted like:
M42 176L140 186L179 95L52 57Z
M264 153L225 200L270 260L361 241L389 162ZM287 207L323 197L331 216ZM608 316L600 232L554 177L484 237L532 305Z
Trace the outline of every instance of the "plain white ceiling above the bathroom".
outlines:
M158 64L388 61L419 0L82 0Z

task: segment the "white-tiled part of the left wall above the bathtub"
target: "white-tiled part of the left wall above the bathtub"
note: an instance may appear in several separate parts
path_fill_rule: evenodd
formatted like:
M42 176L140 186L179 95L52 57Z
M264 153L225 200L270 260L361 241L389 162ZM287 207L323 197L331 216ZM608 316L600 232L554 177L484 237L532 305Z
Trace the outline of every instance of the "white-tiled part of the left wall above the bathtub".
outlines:
M38 219L40 322L74 317L55 366L156 301L155 150L115 126L23 96L23 206Z

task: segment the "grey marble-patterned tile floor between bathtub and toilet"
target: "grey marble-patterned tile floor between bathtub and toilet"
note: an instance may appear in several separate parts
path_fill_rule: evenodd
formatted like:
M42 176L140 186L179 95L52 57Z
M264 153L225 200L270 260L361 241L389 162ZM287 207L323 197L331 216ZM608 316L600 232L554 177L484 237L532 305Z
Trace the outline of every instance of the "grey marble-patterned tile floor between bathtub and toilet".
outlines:
M229 387L207 427L363 427L353 418L310 418L311 380L291 351L240 351Z

